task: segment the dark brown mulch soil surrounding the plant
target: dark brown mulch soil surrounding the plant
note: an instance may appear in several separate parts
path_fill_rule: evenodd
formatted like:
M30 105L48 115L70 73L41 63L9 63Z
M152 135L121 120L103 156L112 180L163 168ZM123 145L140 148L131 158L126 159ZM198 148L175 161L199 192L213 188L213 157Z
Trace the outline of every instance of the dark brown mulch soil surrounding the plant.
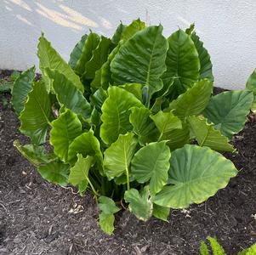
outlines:
M256 241L253 118L234 139L238 153L225 154L240 171L224 190L201 205L172 211L168 223L120 212L115 235L108 236L97 223L92 195L48 183L15 150L15 139L23 144L27 139L11 106L3 107L3 97L10 96L0 94L0 254L198 254L208 235L216 236L227 254L236 254Z

